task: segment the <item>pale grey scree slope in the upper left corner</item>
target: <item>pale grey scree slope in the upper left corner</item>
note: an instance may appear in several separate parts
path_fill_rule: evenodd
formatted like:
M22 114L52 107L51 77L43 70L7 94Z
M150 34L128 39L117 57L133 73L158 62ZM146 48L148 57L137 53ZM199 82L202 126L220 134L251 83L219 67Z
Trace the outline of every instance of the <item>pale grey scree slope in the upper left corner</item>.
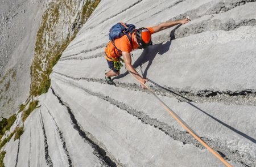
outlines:
M15 113L30 91L30 66L45 1L0 2L0 116Z

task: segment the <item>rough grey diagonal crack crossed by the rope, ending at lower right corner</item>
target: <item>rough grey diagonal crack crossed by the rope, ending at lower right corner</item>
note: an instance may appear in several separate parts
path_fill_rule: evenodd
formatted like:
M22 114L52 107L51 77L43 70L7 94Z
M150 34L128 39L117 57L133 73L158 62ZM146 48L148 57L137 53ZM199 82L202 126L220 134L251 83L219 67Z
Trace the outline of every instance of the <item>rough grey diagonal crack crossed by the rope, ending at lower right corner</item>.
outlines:
M195 140L187 131L181 131L174 128L174 126L167 125L167 123L161 122L156 118L151 118L146 113L139 111L137 109L132 108L129 105L126 105L123 102L117 101L115 99L112 99L109 96L105 96L102 93L99 92L93 92L89 89L83 88L80 85L73 84L79 89L82 89L89 95L98 97L99 99L102 99L104 101L109 102L110 104L116 106L119 109L124 110L130 115L133 115L138 120L140 120L145 125L150 125L155 127L155 129L158 129L160 131L163 131L166 135L170 136L172 139L177 140L179 142L183 142L183 144L192 144L195 147L199 149L204 149L203 145L201 145L197 140ZM230 148L226 146L226 143L216 139L212 140L207 137L201 137L210 147L212 147L214 150L216 150L222 157L224 157L226 160L232 160L235 162L240 163L241 165L251 165L254 164L253 158L249 155L249 153L243 153L240 151L232 151Z

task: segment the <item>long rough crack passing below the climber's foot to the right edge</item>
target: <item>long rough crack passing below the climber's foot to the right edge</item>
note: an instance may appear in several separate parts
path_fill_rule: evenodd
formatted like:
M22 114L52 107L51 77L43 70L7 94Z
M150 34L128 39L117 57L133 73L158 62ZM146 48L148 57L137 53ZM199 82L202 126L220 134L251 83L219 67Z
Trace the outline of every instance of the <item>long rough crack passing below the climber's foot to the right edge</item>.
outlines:
M65 76L66 78L73 80L86 80L88 82L97 82L101 84L107 84L104 79L98 78L75 78L72 76L68 76L65 74L61 74L60 72L53 71L56 74L61 76ZM141 91L150 94L149 91L143 90L139 87L138 84L135 83L122 83L115 81L117 87L126 88L133 91ZM201 91L183 91L181 89L174 89L171 87L163 87L159 85L159 87L149 85L149 87L156 93L156 95L166 96L170 98L175 98L180 102L196 102L196 103L204 103L204 102L219 102L223 104L236 104L236 105L256 105L256 90L254 89L245 89L242 91L213 91L213 90L201 90Z

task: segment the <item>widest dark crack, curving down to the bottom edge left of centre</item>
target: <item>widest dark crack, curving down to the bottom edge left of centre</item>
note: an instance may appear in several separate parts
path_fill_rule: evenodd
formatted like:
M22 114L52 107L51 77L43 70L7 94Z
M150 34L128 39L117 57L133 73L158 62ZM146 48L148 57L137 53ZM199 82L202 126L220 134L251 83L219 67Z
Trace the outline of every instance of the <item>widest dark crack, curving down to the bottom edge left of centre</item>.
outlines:
M100 142L98 142L97 139L94 138L92 134L82 130L82 127L77 122L77 119L75 118L75 115L73 114L71 108L69 108L68 104L65 103L63 100L61 100L60 96L55 93L52 87L51 87L51 90L53 95L56 96L56 98L59 100L59 103L65 106L65 108L67 108L68 114L72 121L73 128L77 130L77 132L79 132L79 135L83 139L85 139L85 142L88 143L94 149L93 154L96 155L105 166L117 166L117 164L118 166L122 166L122 165L119 165L117 160L115 160L114 156L112 156L106 150L105 146Z

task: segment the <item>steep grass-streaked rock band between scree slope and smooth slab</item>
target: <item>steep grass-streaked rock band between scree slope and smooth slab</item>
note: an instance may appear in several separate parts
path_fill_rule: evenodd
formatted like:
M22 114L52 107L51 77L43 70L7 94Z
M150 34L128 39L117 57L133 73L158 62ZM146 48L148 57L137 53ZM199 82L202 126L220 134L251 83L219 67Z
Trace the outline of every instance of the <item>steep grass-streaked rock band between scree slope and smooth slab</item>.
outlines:
M38 96L48 91L52 67L98 2L53 0L47 4L36 35L30 95Z

